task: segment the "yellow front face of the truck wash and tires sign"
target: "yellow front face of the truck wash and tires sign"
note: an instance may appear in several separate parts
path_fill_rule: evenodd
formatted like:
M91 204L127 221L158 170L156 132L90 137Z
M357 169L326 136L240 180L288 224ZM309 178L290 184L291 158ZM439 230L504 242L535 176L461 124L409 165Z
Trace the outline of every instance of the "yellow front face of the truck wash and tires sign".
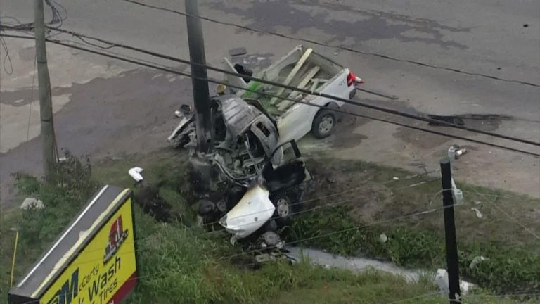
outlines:
M43 293L39 304L120 303L136 284L132 212L128 196Z

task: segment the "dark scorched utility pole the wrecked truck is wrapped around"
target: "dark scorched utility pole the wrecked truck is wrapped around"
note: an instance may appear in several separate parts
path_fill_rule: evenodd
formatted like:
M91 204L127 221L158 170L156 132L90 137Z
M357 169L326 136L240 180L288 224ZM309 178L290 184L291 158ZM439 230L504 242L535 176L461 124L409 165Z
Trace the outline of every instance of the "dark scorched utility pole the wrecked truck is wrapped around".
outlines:
M188 27L189 58L191 60L191 84L197 123L197 148L200 153L210 153L214 148L213 122L210 107L210 92L206 71L205 41L200 25L197 0L186 0L186 22Z

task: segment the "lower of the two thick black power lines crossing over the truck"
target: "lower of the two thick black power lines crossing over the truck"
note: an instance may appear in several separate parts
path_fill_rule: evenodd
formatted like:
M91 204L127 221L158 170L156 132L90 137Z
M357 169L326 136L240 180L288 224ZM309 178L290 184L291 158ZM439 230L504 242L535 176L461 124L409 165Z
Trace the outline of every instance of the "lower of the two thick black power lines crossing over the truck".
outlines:
M12 37L12 38L20 38L20 39L34 39L34 37L23 36L23 35L14 35L14 34L0 34L0 36ZM58 44L58 45L61 45L61 46L66 46L66 47L70 47L70 48L73 48L73 49L78 49L79 51L87 51L89 53L95 53L97 55L106 56L106 57L109 57L109 58L114 58L114 59L117 59L117 60L120 60L120 61L125 61L125 62L129 62L129 63L134 63L136 65L146 66L147 68L155 68L157 70L162 70L164 72L170 72L170 73L176 74L176 75L182 75L182 76L186 76L186 77L193 77L193 78L200 79L200 77L195 77L195 76L193 76L193 75L191 75L189 73L186 73L186 72L179 72L178 70L174 70L173 68L160 66L157 63L148 63L148 62L143 62L143 61L138 60L138 59L125 58L125 56L122 57L119 54L114 54L114 53L111 54L110 52L109 53L104 53L102 51L96 51L96 50L93 50L93 49L87 49L87 48L84 48L82 46L75 46L75 45L68 44L68 43L65 43L65 42L60 42L60 41L54 40L54 39L47 39L47 41L51 42L53 44ZM292 101L293 103L302 103L302 104L306 104L307 106L315 106L317 108L326 108L324 106L318 106L318 105L315 105L313 103L307 103L307 102L304 102L304 101L297 101L295 99L283 98L281 96L277 96L277 95L274 95L274 94L269 94L269 93L266 93L266 92L262 93L262 92L259 92L259 91L256 91L256 90L234 86L234 85L231 85L231 84L228 84L226 82L219 81L219 80L212 80L212 79L204 79L204 80L207 80L208 82L212 82L214 84L223 84L223 85L233 87L233 88L236 88L236 89L243 89L245 91L251 91L251 92L257 93L257 94L263 94L263 95L266 95L266 96L269 96L269 97L278 97L278 98L281 98L281 99ZM518 148L511 148L511 147L503 146L503 145L499 145L499 144L492 144L492 143L489 143L487 141L481 141L481 140L477 140L477 139L470 139L470 138L467 138L467 137L461 137L461 136L454 135L454 134L439 132L439 131L435 131L435 130L432 130L432 129L425 129L423 127L416 127L416 126L412 126L412 125L406 125L406 124L401 123L401 122L394 122L394 121L391 121L391 120L385 120L383 118L375 118L375 117L369 116L369 115L362 115L362 114L358 114L358 113L350 113L350 112L347 112L347 111L344 111L344 110L339 110L339 109L331 109L331 108L326 108L326 109L333 110L336 113L343 113L343 114L347 114L347 115L353 115L353 116L356 116L356 117L367 118L367 119L370 119L370 120L377 120L377 121L380 121L380 122L387 122L387 123L390 123L392 125L399 125L401 127L406 127L406 128L409 128L409 129L416 129L416 130L422 131L422 132L428 132L428 133L431 133L431 134L437 134L437 135L441 135L441 136L444 136L444 137L450 137L450 138L454 138L454 139L461 139L463 141L473 142L475 144L483 144L483 145L486 145L486 146L492 146L492 147L495 147L495 148L501 148L501 149L508 150L508 151L523 153L523 154L527 154L529 156L534 156L536 158L540 157L540 154L538 154L538 153L525 151L525 150L521 150L521 149L518 149Z

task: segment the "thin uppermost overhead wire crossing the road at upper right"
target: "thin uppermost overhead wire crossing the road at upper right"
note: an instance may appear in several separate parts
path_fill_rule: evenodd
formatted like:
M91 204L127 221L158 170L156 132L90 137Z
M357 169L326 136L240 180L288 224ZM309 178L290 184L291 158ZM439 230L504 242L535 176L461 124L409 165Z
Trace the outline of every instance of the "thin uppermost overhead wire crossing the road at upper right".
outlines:
M274 31L269 31L269 30L259 30L259 29L253 28L253 27L248 27L248 26L245 26L245 25L239 25L237 23L221 21L221 20L205 17L205 16L202 16L202 15L191 15L191 14L188 14L188 13L183 12L183 11L176 11L176 10L173 10L173 9L170 9L170 8L164 8L164 7L160 7L160 6L153 6L151 4L143 4L141 2L134 1L134 0L124 0L124 1L130 2L132 4L136 4L136 5L139 5L139 6L144 6L144 7L147 7L147 8L153 8L153 9L156 9L156 10L159 10L159 11L167 11L169 13L176 13L176 14L179 14L179 15L200 18L202 20L206 20L206 21L209 21L211 23L217 23L217 24L220 24L220 25L227 25L227 26L231 26L231 27L237 27L237 28L240 28L242 30L248 30L250 32L257 32L257 33L261 33L261 34L270 34L270 35L278 36L278 37L282 37L282 38L293 39L293 40L298 40L298 41L302 41L302 42L308 42L308 43L316 44L316 45L320 45L320 46L326 46L326 47L330 47L330 48L341 49L343 51L349 51L349 52L352 52L352 53L359 53L359 54L362 54L362 55L368 55L368 56L375 56L375 57L379 57L379 58L384 58L384 59L388 59L388 60L391 60L391 61L399 61L399 62L404 62L404 63L411 63L411 64L414 64L414 65L421 65L421 66L425 66L425 67L428 67L428 68L435 68L435 69L439 69L439 70L448 70L448 71L451 71L451 72L458 72L460 74L465 74L465 75L480 76L480 77L490 78L492 80L500 80L500 81L503 81L503 82L514 82L514 83L518 83L518 84L525 84L525 85L532 86L532 87L540 87L540 84L536 84L534 82L525 82L525 81L522 81L522 80L511 80L511 79L506 79L506 78L497 77L497 76L493 76L493 75L487 75L487 74L483 74L483 73L479 73L479 72L468 72L468 71L465 71L465 70L460 70L458 68L448 68L448 67L444 67L444 66L441 66L441 65L432 65L430 63L423 63L423 62L420 62L420 61L413 61L413 60L410 60L410 59L397 58L397 57L385 55L385 54L382 54L382 53L360 51L360 50L357 50L357 49L349 48L347 46L325 44L323 42L318 42L318 41L313 40L313 39L305 39L305 38L301 38L301 37L295 37L295 36L291 36L291 35L288 35L288 34L283 34L283 33L280 33L280 32L274 32Z

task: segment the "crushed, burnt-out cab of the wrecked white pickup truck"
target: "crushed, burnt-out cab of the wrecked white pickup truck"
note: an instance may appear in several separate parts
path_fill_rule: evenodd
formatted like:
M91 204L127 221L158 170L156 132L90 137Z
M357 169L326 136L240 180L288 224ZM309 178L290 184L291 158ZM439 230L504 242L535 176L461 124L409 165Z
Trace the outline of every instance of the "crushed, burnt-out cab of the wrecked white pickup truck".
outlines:
M271 200L281 199L285 205L296 200L299 191L295 190L295 195L288 191L309 179L296 142L280 143L276 122L257 100L221 95L213 96L210 101L214 118L214 152L203 157L219 168L214 182L221 189L217 191L217 198L202 203L200 213L213 222L233 208L245 191L255 185L264 186ZM195 115L188 106L183 106L176 115L181 122L168 140L174 146L195 153ZM283 215L290 213L285 209L278 208Z

